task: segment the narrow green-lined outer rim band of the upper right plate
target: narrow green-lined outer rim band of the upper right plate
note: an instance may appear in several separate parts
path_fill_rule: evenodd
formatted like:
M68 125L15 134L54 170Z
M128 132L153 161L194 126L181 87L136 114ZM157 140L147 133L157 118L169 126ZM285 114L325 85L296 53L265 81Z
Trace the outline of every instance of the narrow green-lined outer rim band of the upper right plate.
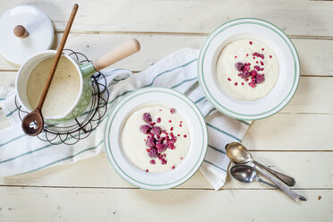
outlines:
M234 21L239 21L239 22L233 23L233 24L230 24L230 25L226 26L228 23L231 23L231 22L234 22ZM258 22L258 21L260 21L260 22ZM261 22L263 22L264 24L261 23ZM236 26L236 25L241 25L241 24L255 24L255 25L260 25L262 27L268 28L269 30L272 30L275 33L277 33L277 35L279 37L281 37L286 42L286 45L289 47L290 52L293 55L294 65L295 65L295 73L294 73L293 86L291 87L290 91L286 95L286 98L288 98L290 96L290 94L293 93L293 95L291 96L291 98L289 98L287 101L286 101L286 98L284 98L276 107L273 107L273 108L269 109L268 111L265 111L265 112L260 113L260 114L255 114L255 115L245 115L245 114L236 113L235 111L230 110L230 109L222 106L220 103L218 103L218 101L211 95L211 93L209 91L209 88L207 87L207 84L206 84L206 81L205 81L205 78L204 78L204 72L203 72L204 57L206 55L206 51L207 51L207 49L208 49L208 47L210 45L210 42L220 32L222 32L222 31L224 31L224 30L226 30L226 29L228 29L230 27L233 27L233 26ZM218 30L218 29L220 29L223 26L226 26L226 27L224 27L222 30ZM273 29L271 26L274 27L274 28L276 28L279 31ZM216 32L217 30L218 30L218 32ZM293 49L294 49L295 53L294 53ZM295 55L297 55L297 59L295 58ZM297 67L298 67L298 73L297 73ZM280 30L277 26L275 26L274 24L270 23L269 21L263 21L263 20L256 19L256 18L240 18L240 19L235 19L235 20L232 20L232 21L227 21L226 23L218 26L217 29L215 29L215 30L213 30L211 32L211 34L209 35L208 38L206 38L206 40L204 41L204 43L203 43L203 45L201 47L197 69L198 69L198 73L199 73L199 82L200 82L200 85L201 85L201 89L205 93L206 98L209 99L209 102L214 107L216 107L218 109L218 111L220 111L221 113L223 113L223 114L225 114L227 116L230 116L232 118L237 118L237 119L242 119L242 120L257 120L257 119L263 119L263 118L269 117L270 115L265 115L265 114L267 114L267 113L269 113L269 112L271 112L273 110L275 110L275 112L272 113L271 115L276 114L282 108L286 107L286 105L288 104L288 102L294 97L295 91L297 90L297 87L298 87L298 84L299 84L299 81L300 81L299 76L301 74L301 68L300 67L301 66L300 66L300 61L299 61L299 55L297 54L297 51L296 51L296 48L295 48L293 42L290 40L290 38L288 38L286 36L286 33L284 33L282 30ZM298 77L298 81L296 82L297 77ZM296 86L295 86L295 84L296 84ZM283 107L278 108L285 101L286 101L286 104ZM227 113L226 111L228 111L229 113ZM230 113L234 114L234 115L231 115ZM235 115L242 115L243 118L239 117L239 116L235 116ZM255 116L260 116L260 115L265 115L265 116L255 118ZM245 116L252 116L252 118L247 118Z

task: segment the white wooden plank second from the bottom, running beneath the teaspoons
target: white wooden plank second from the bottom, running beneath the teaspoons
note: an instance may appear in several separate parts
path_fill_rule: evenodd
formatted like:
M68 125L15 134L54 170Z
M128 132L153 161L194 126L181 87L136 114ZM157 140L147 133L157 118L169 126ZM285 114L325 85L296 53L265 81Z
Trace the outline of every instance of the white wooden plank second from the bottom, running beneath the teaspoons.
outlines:
M295 188L333 189L333 152L252 152L253 158L286 175L295 177ZM295 163L297 163L295 165ZM325 170L319 170L325 169ZM69 180L70 176L70 180ZM262 176L261 176L262 177ZM262 177L264 178L264 177ZM133 188L117 175L104 154L81 160L66 166L55 166L26 175L14 175L0 179L1 185ZM182 189L212 189L201 172L180 185ZM232 177L227 178L223 189L270 189L252 183L241 184ZM1 207L1 206L0 206Z

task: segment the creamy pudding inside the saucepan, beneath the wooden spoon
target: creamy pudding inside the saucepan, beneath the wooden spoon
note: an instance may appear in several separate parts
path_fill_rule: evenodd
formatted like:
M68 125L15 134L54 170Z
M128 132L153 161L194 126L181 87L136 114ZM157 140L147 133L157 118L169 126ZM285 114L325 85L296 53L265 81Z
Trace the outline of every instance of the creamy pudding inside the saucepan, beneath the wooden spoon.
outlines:
M49 57L42 61L30 73L26 91L31 109L35 109L38 105L54 58ZM76 66L69 59L61 56L42 107L44 116L65 115L73 107L80 92L79 74Z

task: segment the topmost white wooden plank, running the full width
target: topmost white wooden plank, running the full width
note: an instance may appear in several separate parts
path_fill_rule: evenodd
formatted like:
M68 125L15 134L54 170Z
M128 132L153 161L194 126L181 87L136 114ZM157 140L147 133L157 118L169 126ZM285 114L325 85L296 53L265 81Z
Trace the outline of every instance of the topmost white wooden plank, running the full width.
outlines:
M17 4L44 10L56 30L64 30L73 6L67 0L2 0L0 13ZM223 22L242 17L270 21L288 35L333 36L331 3L308 0L86 1L80 4L73 31L145 31L209 33Z

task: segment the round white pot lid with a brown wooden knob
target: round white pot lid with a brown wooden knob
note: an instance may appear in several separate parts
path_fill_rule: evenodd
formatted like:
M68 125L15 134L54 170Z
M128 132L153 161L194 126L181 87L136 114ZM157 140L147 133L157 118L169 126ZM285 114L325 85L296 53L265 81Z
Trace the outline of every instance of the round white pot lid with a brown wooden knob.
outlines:
M16 35L14 28L21 25ZM26 36L26 37L24 37ZM30 55L52 46L54 29L47 14L31 5L19 5L5 12L0 18L0 52L13 64L22 64Z

